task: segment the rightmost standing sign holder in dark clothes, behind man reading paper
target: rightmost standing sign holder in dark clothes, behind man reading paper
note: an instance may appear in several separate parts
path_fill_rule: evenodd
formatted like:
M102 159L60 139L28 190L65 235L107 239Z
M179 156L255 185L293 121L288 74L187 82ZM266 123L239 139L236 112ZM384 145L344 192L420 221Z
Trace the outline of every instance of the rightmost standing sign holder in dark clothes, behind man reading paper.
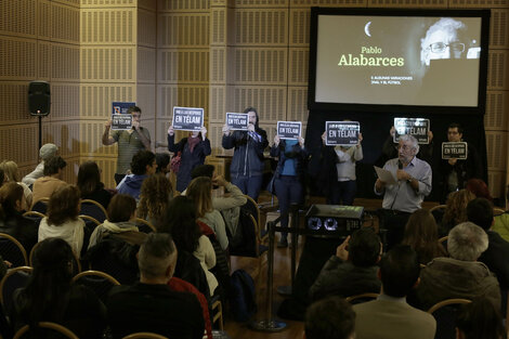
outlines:
M447 141L461 142L462 138L464 129L461 126L456 122L451 123L447 128ZM452 158L442 160L440 173L443 188L441 201L443 204L451 192L465 188L469 179L482 179L481 159L478 151L469 143L467 145L467 159Z

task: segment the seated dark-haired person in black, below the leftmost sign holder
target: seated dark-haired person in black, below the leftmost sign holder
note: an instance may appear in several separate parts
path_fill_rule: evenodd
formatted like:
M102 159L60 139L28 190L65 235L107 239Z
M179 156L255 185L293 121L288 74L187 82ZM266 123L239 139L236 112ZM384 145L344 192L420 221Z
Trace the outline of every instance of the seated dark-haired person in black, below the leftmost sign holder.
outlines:
M95 161L84 161L80 165L76 185L81 192L81 199L91 199L101 204L105 209L108 208L112 194L104 190L104 184L101 182L101 170Z

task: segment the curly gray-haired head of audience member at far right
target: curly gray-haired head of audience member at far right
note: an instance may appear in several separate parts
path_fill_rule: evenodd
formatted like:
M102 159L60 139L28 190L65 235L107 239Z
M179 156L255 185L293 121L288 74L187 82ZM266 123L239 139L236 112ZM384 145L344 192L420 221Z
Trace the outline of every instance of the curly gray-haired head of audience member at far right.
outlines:
M486 249L486 232L472 222L462 222L448 234L447 251L453 259L475 261Z

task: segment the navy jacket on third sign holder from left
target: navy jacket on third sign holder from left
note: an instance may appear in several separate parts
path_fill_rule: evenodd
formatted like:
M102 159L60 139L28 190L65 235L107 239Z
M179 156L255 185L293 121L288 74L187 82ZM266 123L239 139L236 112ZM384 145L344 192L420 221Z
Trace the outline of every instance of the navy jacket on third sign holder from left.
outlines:
M245 131L234 131L230 135L223 134L223 148L235 147L230 166L231 178L262 175L263 151L269 146L269 142L264 130L257 128L256 132L260 135L260 141L250 138Z

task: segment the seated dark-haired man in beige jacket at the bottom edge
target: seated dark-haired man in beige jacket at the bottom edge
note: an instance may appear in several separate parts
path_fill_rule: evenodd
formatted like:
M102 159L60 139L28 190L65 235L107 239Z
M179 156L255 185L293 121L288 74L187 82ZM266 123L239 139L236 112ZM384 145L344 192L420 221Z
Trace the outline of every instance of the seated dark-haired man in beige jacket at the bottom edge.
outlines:
M353 305L356 339L433 339L433 316L414 309L405 297L418 284L419 261L409 246L399 245L380 261L381 295Z

